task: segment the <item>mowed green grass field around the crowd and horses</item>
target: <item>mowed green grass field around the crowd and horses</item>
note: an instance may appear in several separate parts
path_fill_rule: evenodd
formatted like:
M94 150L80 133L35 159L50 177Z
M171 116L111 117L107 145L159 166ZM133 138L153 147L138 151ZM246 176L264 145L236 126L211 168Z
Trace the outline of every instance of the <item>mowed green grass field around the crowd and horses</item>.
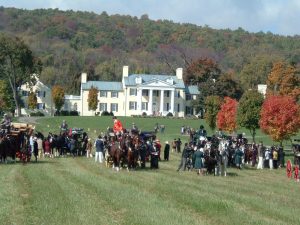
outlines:
M62 119L70 127L89 128L94 137L112 125L111 118L58 117L38 120L37 130L57 132ZM164 124L162 141L186 140L179 135L181 125L204 124L120 119L144 130ZM130 172L84 157L0 164L0 224L300 224L300 183L288 180L285 169L230 168L227 177L197 176L176 172L179 160L171 153L159 170Z

